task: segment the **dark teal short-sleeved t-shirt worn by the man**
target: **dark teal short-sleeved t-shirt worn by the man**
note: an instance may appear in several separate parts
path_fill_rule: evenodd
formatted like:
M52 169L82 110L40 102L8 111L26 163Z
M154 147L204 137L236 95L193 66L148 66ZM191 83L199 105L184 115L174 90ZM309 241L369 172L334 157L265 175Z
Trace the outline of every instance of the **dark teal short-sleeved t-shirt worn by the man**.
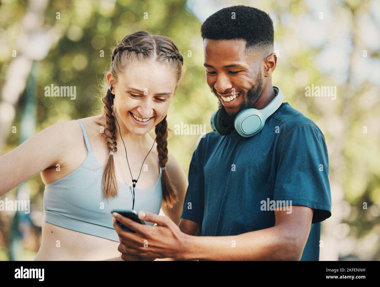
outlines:
M230 236L273 227L274 206L307 206L314 212L301 260L319 260L321 221L331 216L328 164L321 130L282 103L255 136L201 138L181 218L197 222L200 236Z

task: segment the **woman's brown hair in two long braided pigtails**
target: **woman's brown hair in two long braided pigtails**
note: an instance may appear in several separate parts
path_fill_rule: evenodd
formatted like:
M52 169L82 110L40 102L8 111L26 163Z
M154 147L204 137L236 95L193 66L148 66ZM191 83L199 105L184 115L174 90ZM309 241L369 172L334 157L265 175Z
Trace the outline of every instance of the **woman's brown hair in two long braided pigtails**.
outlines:
M145 31L138 31L127 35L116 45L112 51L110 72L117 79L125 69L125 63L129 61L143 61L154 59L159 63L169 63L176 67L177 85L182 76L183 57L177 46L169 38L160 35L152 35ZM105 119L103 137L107 142L109 151L117 152L115 117L112 114L114 94L107 89L107 94L102 98L104 103L103 114L100 118ZM100 120L97 124L100 124ZM157 136L158 163L161 168L161 185L163 201L168 208L173 208L178 201L177 190L166 173L166 163L168 162L168 122L166 116L155 127ZM103 192L106 199L111 199L118 194L118 185L114 157L111 153L103 172Z

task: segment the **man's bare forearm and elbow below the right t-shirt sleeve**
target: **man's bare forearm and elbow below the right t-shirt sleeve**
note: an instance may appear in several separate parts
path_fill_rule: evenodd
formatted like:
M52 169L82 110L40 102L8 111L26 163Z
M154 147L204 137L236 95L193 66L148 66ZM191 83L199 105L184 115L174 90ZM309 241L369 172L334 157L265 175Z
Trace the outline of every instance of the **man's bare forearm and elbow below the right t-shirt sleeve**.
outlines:
M235 236L188 236L186 257L203 260L300 260L309 237L313 209L292 206L290 214L286 210L275 210L274 214L274 227ZM185 226L184 230L187 230Z

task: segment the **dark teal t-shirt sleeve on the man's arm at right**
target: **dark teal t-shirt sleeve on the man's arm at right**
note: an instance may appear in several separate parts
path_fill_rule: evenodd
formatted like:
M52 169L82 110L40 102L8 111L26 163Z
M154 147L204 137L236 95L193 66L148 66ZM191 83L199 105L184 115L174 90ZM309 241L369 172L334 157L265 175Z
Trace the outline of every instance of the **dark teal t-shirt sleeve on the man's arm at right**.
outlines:
M313 125L299 125L284 135L278 155L273 200L313 208L312 223L331 216L329 161L324 136ZM278 205L276 205L278 206Z

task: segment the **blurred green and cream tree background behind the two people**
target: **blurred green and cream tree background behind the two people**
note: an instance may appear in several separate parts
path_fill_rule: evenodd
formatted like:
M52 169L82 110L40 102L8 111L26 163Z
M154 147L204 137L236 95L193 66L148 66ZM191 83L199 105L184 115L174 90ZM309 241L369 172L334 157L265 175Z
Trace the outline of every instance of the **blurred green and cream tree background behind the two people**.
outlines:
M238 4L272 17L278 55L272 82L282 89L284 101L326 137L332 216L322 222L320 260L380 260L377 0L3 0L0 155L54 123L100 114L100 83L110 50L137 30L170 37L184 55L185 75L169 109L169 127L205 124L210 132L217 99L205 81L200 27L212 13ZM45 97L44 87L51 84L76 86L76 100ZM312 84L336 86L336 100L305 97L305 87ZM169 152L186 174L199 138L174 135L169 140ZM0 212L0 260L34 259L41 242L43 191L37 175L0 197L31 201L30 214Z

